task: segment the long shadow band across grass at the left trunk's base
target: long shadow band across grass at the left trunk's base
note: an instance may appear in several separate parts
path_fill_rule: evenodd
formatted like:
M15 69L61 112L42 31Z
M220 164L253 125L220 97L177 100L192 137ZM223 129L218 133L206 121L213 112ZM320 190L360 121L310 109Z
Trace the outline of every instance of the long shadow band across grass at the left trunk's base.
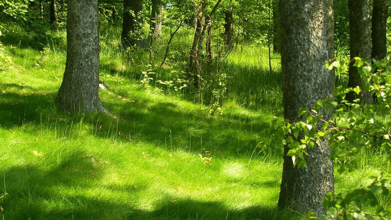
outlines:
M19 85L0 84L0 88ZM55 93L0 94L0 125L4 128L32 123L40 128L65 130L73 123L90 124L90 133L117 141L143 141L155 146L189 150L201 148L216 154L249 155L258 144L268 121L240 115L210 116L199 107L181 107L175 101L156 101L140 92L132 102L115 96L104 102L116 118L104 114L69 115L53 103ZM59 118L61 120L59 120Z

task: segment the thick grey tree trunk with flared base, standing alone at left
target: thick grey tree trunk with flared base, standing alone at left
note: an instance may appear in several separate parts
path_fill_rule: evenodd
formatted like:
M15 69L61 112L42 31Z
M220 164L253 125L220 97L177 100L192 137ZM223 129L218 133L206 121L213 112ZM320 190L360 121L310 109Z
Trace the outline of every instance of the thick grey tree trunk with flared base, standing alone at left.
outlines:
M105 111L99 99L98 0L68 0L67 49L61 108L73 113Z

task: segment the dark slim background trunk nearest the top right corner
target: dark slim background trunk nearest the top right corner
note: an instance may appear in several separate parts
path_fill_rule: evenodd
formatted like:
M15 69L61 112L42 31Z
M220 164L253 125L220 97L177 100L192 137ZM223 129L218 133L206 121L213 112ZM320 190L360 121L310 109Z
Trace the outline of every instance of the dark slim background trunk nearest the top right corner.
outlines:
M373 0L372 58L387 56L387 0Z

